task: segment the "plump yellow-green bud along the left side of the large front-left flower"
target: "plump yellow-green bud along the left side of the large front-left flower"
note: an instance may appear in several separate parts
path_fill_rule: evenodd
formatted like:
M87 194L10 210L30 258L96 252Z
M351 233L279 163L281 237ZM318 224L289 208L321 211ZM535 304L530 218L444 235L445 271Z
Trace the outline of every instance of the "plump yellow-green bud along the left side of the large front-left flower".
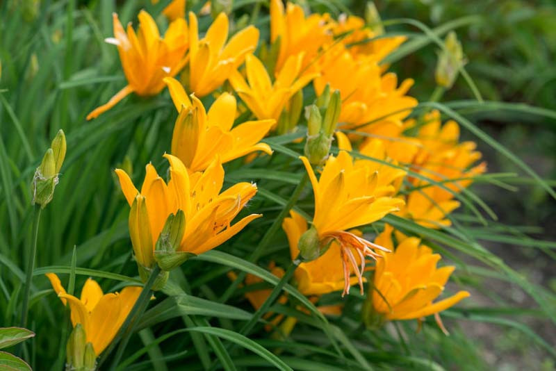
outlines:
M129 236L137 265L150 269L154 266L149 214L145 196L137 195L129 211ZM147 276L148 277L148 276Z

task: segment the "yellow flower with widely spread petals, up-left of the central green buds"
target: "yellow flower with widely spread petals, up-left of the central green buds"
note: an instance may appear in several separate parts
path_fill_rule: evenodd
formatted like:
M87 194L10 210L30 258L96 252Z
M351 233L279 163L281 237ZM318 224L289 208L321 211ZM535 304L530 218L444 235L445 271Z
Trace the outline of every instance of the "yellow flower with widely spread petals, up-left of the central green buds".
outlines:
M284 68L276 75L276 80L272 83L261 60L249 54L245 58L245 70L249 83L237 71L231 74L229 81L258 119L278 120L293 94L318 76L318 74L299 76L303 55L300 53L288 58Z

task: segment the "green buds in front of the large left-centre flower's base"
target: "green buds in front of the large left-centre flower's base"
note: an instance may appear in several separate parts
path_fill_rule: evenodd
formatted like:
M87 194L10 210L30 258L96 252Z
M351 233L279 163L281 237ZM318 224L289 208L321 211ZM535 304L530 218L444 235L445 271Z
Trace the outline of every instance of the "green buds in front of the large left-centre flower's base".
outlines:
M195 256L195 254L188 252L177 251L185 231L185 213L179 210L176 215L170 214L164 224L160 237L158 237L158 241L156 241L154 250L154 258L158 266L161 267L161 270L169 272L179 267L179 265L191 256Z

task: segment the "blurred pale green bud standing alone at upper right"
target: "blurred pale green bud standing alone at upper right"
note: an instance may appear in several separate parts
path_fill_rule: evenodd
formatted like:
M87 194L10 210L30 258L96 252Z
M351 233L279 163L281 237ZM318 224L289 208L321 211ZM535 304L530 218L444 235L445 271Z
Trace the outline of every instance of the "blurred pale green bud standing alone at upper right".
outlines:
M445 49L439 51L438 63L434 77L436 83L446 89L452 88L459 68L466 64L461 43L457 40L454 31L450 31L444 40Z

